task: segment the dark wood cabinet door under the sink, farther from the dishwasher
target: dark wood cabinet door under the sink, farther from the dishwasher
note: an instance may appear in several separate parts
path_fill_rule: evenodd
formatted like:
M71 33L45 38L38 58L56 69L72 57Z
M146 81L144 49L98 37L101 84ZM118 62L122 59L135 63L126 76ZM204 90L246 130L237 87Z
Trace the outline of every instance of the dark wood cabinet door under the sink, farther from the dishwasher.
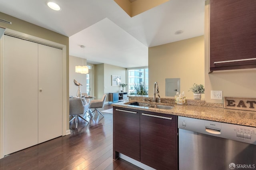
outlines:
M113 107L113 157L118 153L140 161L140 113L137 110Z

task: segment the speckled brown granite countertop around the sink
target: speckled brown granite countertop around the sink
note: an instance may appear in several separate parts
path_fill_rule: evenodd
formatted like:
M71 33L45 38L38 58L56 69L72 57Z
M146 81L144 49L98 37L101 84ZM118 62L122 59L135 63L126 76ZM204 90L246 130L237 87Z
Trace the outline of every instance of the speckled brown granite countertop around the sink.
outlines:
M132 102L128 102L128 103L132 103ZM128 105L127 101L113 103L112 106L256 127L255 111L243 111L243 110L234 110L234 109L224 109L221 107L207 107L207 106L198 106L198 105L176 105L176 104L170 104L170 103L156 103L156 102L143 102L143 101L138 101L138 102L157 104L157 105L168 105L168 106L174 106L174 108L170 110L166 110L166 109L155 109L150 107L134 106L134 105Z

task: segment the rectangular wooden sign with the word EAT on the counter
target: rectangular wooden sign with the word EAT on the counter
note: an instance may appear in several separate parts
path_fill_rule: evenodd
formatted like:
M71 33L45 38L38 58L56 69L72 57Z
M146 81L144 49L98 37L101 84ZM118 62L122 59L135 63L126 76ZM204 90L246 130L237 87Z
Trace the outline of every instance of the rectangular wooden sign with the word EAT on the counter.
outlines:
M256 111L256 98L225 97L224 108Z

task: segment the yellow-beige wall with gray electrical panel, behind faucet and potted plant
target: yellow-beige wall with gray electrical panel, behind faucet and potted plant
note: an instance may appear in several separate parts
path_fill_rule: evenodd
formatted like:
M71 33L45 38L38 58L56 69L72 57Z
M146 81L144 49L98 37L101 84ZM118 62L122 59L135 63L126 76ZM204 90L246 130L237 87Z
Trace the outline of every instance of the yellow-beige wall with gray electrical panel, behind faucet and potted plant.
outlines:
M180 91L188 92L193 83L204 85L204 36L167 43L148 49L149 96L158 82L160 97L165 96L165 79L180 78ZM204 95L202 95L202 99Z

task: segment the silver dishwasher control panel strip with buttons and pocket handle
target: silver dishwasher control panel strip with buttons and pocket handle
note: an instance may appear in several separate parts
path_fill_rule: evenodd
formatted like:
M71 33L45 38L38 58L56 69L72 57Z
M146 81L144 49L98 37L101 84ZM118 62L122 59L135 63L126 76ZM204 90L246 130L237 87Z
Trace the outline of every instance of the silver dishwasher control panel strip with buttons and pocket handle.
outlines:
M256 145L255 127L179 116L178 128Z

